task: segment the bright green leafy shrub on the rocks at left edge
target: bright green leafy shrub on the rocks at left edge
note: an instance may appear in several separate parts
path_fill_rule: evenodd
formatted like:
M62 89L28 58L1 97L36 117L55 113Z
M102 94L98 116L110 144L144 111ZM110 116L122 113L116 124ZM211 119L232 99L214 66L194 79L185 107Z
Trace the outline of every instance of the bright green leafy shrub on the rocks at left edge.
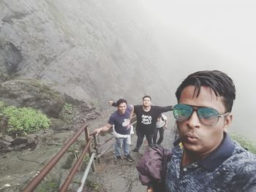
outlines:
M6 106L0 101L0 115L8 119L8 134L26 134L50 127L50 119L31 107Z

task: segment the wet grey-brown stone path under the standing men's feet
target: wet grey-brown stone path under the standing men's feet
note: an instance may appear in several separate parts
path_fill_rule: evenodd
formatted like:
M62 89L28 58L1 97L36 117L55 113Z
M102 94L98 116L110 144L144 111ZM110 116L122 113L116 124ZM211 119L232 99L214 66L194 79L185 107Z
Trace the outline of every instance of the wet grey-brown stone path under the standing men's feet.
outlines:
M110 134L105 136L110 137ZM99 136L100 141L103 142L105 137ZM132 135L132 146L130 146L130 154L135 158L135 162L129 162L125 159L114 161L114 147L111 147L104 155L101 156L101 162L96 164L97 172L90 172L88 180L98 183L98 185L105 188L105 191L111 192L138 192L146 191L146 186L141 185L136 169L136 164L140 161L148 145L146 141L140 147L139 153L132 152L137 141L136 134ZM114 140L113 140L114 142ZM162 143L163 147L171 148L173 143L173 132L169 127L165 131L165 139Z

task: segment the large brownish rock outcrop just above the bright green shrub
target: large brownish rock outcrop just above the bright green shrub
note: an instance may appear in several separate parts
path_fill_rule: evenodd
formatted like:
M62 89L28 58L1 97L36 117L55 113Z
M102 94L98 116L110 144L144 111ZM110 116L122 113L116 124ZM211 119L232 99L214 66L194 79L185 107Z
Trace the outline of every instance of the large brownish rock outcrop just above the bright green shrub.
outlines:
M33 107L52 118L58 118L64 96L37 80L9 80L0 84L0 101L16 107Z

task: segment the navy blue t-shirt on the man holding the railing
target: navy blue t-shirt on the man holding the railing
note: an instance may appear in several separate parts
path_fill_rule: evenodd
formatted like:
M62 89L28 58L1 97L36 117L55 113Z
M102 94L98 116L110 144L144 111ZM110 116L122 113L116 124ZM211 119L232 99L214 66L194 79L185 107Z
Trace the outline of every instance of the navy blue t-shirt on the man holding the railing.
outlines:
M116 133L118 134L130 134L131 131L131 123L129 120L129 117L132 112L132 106L128 105L127 110L124 112L124 114L120 114L118 110L116 112L113 112L113 114L110 116L108 123L110 125L115 126Z

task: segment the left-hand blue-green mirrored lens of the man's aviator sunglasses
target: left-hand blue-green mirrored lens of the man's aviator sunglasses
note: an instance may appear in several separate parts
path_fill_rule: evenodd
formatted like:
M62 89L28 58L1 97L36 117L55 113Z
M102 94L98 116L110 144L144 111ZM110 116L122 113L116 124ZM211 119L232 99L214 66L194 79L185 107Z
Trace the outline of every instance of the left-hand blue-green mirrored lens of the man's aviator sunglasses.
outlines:
M192 112L192 107L186 104L176 104L176 106L173 107L174 118L178 121L183 121L189 118Z

